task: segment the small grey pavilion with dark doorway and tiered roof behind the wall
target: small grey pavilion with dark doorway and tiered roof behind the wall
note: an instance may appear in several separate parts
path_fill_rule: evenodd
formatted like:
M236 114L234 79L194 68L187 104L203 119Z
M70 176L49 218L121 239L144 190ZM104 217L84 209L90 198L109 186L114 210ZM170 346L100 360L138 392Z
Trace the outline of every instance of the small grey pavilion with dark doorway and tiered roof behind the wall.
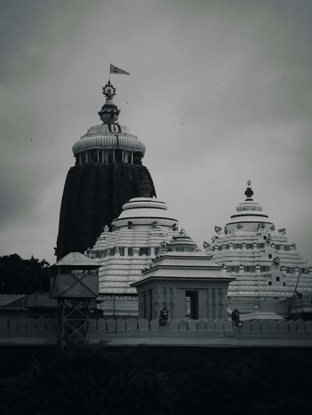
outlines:
M131 284L139 295L139 318L158 319L165 307L169 320L185 319L188 299L191 319L228 320L228 286L235 278L197 250L183 229L142 274Z

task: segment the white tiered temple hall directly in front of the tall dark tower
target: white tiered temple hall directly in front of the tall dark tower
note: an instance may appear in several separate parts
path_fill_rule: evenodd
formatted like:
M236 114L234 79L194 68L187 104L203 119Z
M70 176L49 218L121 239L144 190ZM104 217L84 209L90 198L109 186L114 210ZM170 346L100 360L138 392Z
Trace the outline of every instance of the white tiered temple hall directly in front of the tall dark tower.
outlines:
M99 291L114 295L136 294L131 283L141 278L151 259L162 254L178 234L178 220L168 217L166 203L155 198L133 198L112 222L114 232L105 227L92 250L99 261ZM175 229L175 230L173 230Z

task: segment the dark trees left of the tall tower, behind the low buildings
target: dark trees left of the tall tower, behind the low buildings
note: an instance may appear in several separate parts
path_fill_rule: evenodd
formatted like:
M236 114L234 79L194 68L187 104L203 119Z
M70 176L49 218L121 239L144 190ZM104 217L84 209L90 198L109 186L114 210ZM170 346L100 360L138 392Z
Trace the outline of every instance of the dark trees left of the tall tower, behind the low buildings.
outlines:
M17 254L0 257L0 293L31 294L50 291L50 264L33 256L22 259Z

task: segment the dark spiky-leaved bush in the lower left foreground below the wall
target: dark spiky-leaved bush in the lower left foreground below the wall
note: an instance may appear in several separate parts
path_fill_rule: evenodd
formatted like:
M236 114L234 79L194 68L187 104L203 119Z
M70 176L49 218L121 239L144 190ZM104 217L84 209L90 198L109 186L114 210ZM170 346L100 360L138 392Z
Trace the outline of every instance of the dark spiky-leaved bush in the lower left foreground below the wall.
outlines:
M172 414L175 389L164 373L146 367L144 346L48 347L49 361L34 358L24 374L3 381L4 414Z

